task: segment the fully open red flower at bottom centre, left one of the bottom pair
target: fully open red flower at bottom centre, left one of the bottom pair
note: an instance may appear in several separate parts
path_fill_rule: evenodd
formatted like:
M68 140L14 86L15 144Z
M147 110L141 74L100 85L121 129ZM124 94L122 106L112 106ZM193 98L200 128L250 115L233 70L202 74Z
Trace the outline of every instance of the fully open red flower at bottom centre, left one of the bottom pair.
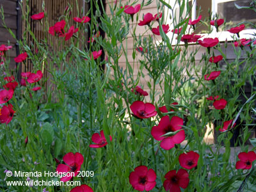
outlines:
M156 186L156 173L147 166L137 166L129 175L132 188L138 191L150 191Z

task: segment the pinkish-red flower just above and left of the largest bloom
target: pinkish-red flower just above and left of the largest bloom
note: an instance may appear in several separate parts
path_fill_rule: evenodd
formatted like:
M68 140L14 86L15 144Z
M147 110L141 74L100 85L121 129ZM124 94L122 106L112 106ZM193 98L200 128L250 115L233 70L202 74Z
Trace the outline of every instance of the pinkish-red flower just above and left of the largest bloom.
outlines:
M156 107L153 104L149 102L144 103L140 100L134 101L131 104L130 109L132 110L133 115L138 118L149 118L157 114Z

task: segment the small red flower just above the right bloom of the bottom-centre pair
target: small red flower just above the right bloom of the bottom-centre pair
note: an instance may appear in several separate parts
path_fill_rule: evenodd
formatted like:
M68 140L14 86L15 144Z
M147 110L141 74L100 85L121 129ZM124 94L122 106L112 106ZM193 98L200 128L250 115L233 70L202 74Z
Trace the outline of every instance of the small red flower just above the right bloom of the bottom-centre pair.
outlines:
M188 153L180 154L179 163L180 163L180 166L182 166L183 168L191 170L191 168L194 168L195 166L197 166L198 159L199 159L198 153L189 151Z

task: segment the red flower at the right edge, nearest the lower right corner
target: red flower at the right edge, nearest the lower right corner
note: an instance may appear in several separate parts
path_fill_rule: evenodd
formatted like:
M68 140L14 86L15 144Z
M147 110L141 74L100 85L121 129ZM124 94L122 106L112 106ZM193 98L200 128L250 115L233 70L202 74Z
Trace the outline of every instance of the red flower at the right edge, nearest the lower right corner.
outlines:
M241 152L238 154L238 158L240 159L240 161L237 161L236 169L248 170L252 168L252 162L255 161L256 154L253 151L250 151L248 153Z

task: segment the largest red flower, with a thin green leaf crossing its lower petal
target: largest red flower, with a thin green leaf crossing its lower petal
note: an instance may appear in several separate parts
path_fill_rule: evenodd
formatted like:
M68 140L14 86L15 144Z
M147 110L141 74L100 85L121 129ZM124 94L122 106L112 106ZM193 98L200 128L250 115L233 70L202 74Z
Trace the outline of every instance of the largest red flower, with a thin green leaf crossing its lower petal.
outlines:
M182 129L183 120L179 116L173 116L170 120L169 116L163 116L158 126L152 127L151 134L155 140L161 141L160 147L170 150L175 144L179 144L185 140L185 131ZM168 132L178 131L172 136L163 136Z

